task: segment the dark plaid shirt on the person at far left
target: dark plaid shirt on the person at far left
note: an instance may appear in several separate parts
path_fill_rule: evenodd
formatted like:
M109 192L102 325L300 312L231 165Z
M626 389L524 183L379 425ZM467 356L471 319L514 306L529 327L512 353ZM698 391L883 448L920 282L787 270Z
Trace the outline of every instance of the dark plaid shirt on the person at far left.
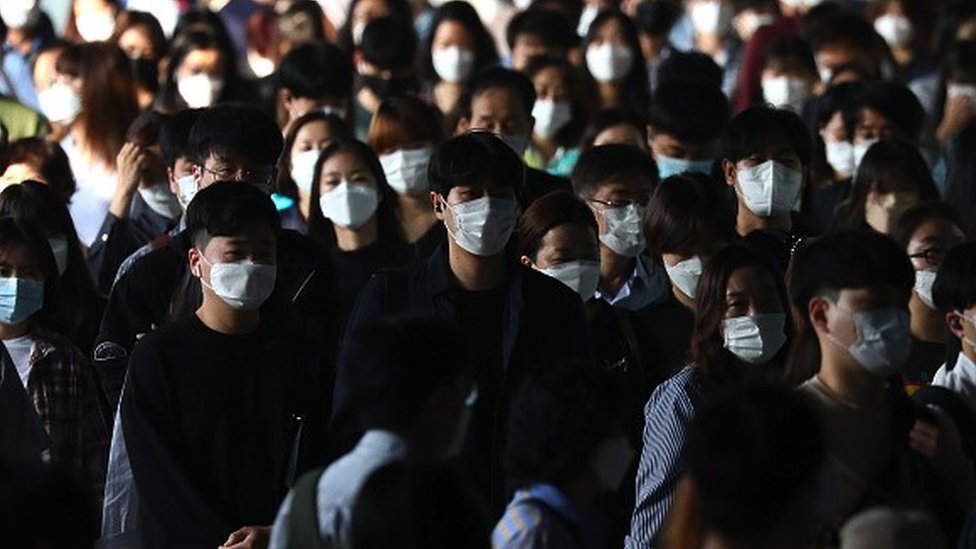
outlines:
M110 431L91 365L67 338L31 330L27 392L50 437L45 461L87 483L101 508Z

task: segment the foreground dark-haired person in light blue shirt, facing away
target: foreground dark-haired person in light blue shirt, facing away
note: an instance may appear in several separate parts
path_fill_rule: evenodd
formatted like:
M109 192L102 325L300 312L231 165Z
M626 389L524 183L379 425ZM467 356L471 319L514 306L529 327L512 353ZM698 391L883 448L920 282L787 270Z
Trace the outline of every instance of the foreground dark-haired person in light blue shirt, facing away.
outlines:
M435 461L459 448L478 400L461 342L456 326L432 319L379 321L352 336L359 362L350 384L365 433L349 453L296 483L278 511L270 549L348 543L353 503L374 471ZM320 517L318 531L299 531L299 516L309 512Z

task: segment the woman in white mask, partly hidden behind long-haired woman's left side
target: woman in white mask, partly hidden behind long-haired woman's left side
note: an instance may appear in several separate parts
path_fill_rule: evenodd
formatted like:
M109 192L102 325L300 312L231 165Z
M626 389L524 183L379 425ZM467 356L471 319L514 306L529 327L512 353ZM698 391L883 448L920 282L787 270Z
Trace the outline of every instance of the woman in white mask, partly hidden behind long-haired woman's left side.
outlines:
M278 161L277 194L294 201L279 212L281 226L305 233L312 204L315 163L319 153L336 138L348 139L346 125L332 114L315 110L295 119L285 133L287 154Z

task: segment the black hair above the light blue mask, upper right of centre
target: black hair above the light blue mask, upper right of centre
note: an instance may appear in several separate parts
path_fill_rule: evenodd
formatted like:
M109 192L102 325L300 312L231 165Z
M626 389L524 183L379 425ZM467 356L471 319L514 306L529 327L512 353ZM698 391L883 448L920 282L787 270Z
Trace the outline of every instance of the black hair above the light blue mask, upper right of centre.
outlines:
M721 90L681 80L661 82L651 100L647 123L690 143L718 139L729 120L729 101Z

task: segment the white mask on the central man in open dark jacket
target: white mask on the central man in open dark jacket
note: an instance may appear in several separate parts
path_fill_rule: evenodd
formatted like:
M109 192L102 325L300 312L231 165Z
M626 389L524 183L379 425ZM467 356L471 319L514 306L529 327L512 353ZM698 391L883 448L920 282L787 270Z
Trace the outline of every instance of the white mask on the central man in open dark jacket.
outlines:
M461 249L479 257L501 253L515 230L518 204L510 198L484 196L454 206L441 199L454 217L448 234Z

